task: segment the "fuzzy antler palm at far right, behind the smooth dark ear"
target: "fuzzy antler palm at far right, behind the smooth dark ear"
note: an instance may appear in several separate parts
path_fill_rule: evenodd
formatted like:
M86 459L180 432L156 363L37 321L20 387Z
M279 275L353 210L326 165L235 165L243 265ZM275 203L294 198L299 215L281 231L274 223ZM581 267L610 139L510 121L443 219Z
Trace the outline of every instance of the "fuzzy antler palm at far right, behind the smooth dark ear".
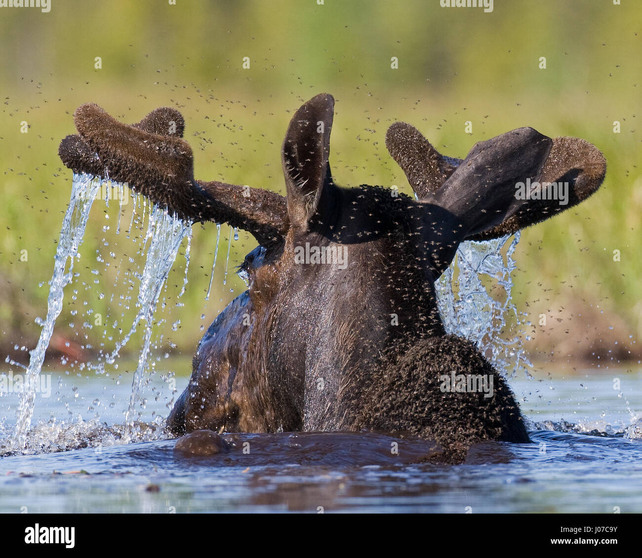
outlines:
M593 195L605 175L606 159L593 144L578 137L556 137L537 184L532 184L530 200L496 227L470 236L469 240L514 234L555 216Z

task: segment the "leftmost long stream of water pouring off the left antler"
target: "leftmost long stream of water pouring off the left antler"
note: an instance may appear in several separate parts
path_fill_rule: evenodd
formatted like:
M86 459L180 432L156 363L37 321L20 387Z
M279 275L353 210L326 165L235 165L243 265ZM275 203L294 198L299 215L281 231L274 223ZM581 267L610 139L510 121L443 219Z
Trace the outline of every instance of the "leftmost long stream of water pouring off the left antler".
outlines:
M25 372L25 388L16 414L17 422L12 439L12 446L15 449L24 448L26 444L26 435L33 415L37 379L42 370L44 356L53 334L53 326L56 318L60 315L60 311L62 311L64 288L73 280L74 260L80 258L78 248L82 243L89 218L89 210L98 193L98 189L100 189L100 180L94 179L89 175L77 175L74 173L71 199L62 222L54 259L53 275L49 282L47 317L44 322L39 318L37 319L37 323L42 326L42 331L36 348L30 354L29 366ZM69 268L67 268L67 262L69 263Z

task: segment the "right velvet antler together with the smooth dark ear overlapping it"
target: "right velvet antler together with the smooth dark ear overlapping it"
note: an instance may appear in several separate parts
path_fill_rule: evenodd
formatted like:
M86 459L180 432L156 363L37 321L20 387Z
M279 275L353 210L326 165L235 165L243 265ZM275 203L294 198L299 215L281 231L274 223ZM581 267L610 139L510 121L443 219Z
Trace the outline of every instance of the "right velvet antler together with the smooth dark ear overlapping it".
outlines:
M551 139L533 128L476 143L464 161L440 155L403 122L388 128L386 146L419 199L462 218L467 240L514 234L573 207L597 191L606 173L604 156L584 139ZM528 181L528 197L520 198L518 186ZM542 195L553 182L568 182L563 204L559 196Z

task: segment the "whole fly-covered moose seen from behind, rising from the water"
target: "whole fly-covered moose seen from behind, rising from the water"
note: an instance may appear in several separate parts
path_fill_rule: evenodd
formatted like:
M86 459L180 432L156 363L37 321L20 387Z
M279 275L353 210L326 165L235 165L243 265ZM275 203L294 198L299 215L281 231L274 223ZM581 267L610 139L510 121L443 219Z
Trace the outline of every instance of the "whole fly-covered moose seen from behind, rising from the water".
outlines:
M578 204L605 177L583 139L518 128L446 157L396 122L386 146L415 198L390 187L341 187L329 166L334 98L294 114L282 144L286 196L203 182L168 107L123 124L97 105L74 113L59 155L75 172L126 182L191 222L225 222L258 246L240 266L248 290L207 329L189 385L167 419L174 435L383 430L436 440L461 462L482 440L528 443L507 382L476 347L446 335L434 283L465 240L487 240ZM544 195L568 183L566 204ZM529 184L528 196L516 184ZM308 254L295 257L305 247ZM345 261L338 261L338 251ZM451 374L490 379L444 390Z

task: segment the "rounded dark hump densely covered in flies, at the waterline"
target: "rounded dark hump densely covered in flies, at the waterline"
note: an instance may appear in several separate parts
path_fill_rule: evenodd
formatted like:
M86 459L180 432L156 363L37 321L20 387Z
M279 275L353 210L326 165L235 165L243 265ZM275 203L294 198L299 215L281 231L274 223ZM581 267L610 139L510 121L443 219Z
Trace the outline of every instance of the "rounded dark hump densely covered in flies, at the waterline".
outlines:
M442 375L487 374L494 395L443 392ZM354 428L405 431L435 439L447 451L461 451L482 440L528 443L519 407L502 376L473 343L455 335L391 347L367 382L365 401Z

